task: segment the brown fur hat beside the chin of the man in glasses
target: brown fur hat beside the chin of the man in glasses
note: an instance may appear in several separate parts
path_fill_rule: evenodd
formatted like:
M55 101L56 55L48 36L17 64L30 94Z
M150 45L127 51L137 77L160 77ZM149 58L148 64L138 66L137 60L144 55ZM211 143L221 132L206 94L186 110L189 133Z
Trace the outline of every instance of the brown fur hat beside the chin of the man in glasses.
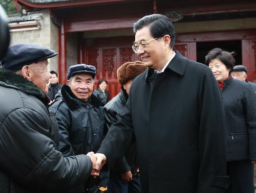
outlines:
M123 85L125 82L135 79L138 75L147 69L143 62L126 62L117 69L118 82Z

